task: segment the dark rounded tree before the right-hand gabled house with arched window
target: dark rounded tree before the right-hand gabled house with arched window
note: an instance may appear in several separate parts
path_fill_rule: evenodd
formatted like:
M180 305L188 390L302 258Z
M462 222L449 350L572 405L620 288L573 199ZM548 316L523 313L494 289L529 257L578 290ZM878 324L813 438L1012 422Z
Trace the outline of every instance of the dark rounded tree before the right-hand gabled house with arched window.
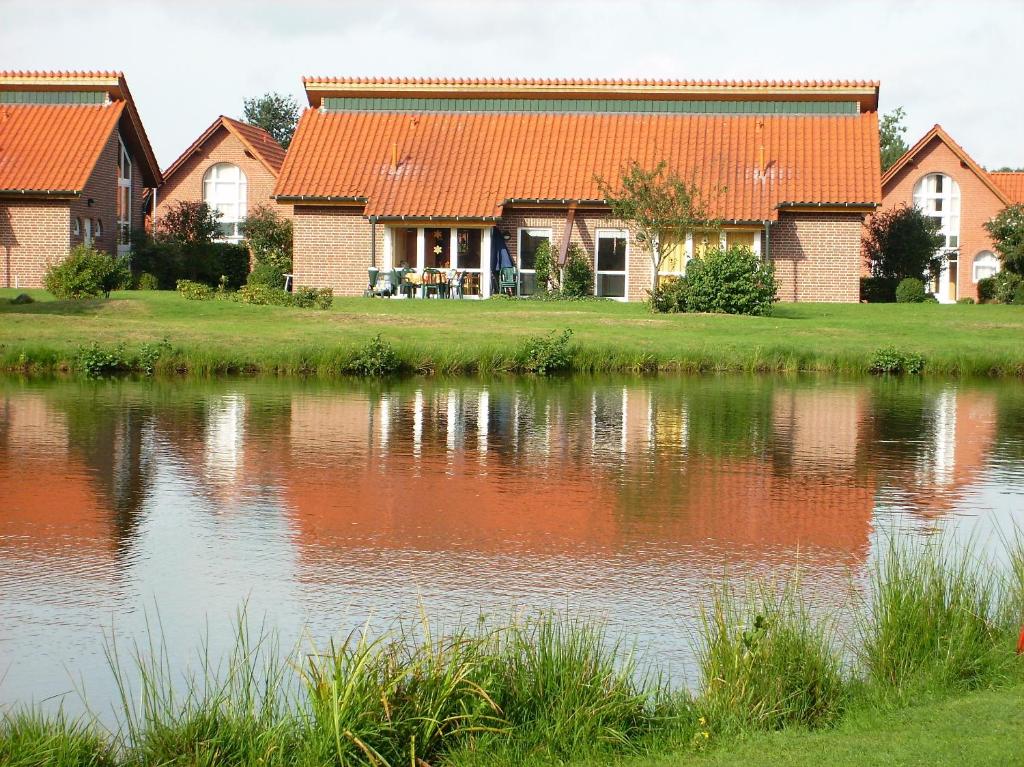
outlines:
M942 267L945 237L939 221L920 208L898 205L868 219L861 250L872 276L903 280L935 274Z

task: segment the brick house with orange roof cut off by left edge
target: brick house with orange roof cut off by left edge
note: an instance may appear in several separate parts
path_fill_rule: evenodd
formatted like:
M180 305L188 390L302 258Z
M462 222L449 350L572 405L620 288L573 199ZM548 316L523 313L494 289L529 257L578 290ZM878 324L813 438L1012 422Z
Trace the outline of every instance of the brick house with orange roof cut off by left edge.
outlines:
M77 245L127 254L160 168L124 75L0 72L0 286Z

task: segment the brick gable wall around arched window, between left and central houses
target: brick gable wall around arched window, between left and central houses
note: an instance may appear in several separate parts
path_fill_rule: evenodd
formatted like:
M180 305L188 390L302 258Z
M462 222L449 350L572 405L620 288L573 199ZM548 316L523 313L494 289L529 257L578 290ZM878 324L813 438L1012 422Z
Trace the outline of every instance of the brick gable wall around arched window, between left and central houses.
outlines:
M203 176L217 163L231 163L246 174L247 208L257 205L274 208L281 215L291 218L292 206L279 205L270 199L278 178L259 160L250 155L242 141L221 127L182 163L174 174L164 180L157 195L157 210L160 215L176 202L203 199Z

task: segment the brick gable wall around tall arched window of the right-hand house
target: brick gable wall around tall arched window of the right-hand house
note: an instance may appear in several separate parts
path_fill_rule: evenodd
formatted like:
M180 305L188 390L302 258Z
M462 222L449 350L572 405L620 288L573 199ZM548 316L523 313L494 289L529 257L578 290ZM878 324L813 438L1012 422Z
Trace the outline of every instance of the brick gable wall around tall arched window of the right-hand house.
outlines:
M1000 210L1002 203L985 183L938 137L893 176L882 189L885 210L900 204L913 205L913 187L929 173L945 173L959 184L961 231L957 269L958 297L978 297L973 278L975 257L982 251L995 253L984 223Z

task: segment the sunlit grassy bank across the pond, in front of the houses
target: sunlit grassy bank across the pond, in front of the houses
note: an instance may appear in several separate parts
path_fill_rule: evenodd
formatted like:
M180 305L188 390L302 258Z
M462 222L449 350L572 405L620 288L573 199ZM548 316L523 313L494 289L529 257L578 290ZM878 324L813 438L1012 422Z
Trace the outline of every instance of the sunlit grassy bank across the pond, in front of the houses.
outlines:
M200 376L333 376L376 336L407 373L521 372L523 344L571 329L575 372L866 374L895 347L925 375L1024 376L1024 307L781 304L770 317L655 315L640 304L336 299L329 311L185 301L125 292L109 301L12 305L0 291L0 369L81 369L81 352L124 344L129 368ZM163 342L166 341L166 345ZM159 347L159 348L158 348Z

